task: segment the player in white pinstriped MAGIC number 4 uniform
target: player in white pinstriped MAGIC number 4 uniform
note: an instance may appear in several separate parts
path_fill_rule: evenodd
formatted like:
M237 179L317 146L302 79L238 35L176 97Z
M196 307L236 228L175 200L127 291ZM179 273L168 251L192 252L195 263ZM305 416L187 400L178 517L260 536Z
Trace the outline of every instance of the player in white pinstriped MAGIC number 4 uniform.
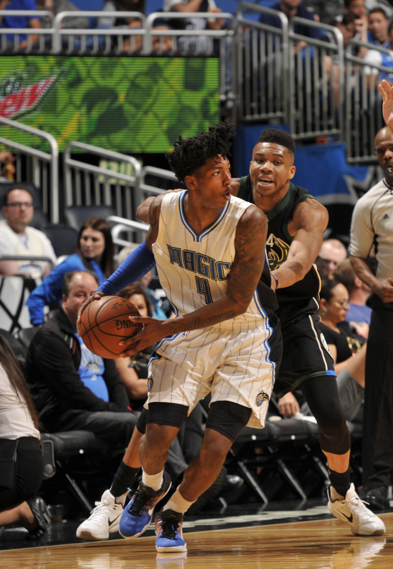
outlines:
M200 454L156 518L157 551L186 551L183 514L216 479L240 430L264 426L280 357L271 351L273 328L259 298L269 304L272 293L269 282L259 285L267 219L230 194L226 155L232 134L232 125L220 123L175 143L167 158L187 190L154 200L144 244L96 294L113 294L155 259L177 315L138 319L143 331L125 343L125 355L157 343L157 356L149 367L141 482L120 520L124 537L149 526L155 504L170 488L163 472L169 445L199 399L211 393Z

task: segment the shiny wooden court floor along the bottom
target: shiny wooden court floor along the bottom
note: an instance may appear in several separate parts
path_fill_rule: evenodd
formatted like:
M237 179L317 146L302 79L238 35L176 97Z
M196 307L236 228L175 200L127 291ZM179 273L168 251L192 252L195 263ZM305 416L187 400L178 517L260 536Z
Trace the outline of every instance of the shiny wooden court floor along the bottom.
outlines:
M14 549L0 567L18 569L392 569L393 513L386 534L355 537L337 519L187 532L187 554L157 554L154 537Z

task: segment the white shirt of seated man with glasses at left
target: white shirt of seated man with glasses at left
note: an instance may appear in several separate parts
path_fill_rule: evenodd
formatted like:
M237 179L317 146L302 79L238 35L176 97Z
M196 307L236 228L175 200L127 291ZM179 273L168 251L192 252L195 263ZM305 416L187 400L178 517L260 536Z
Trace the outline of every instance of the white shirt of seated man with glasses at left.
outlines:
M27 226L24 236L18 235L5 220L0 220L0 257L23 255L24 257L48 257L56 263L56 254L46 234ZM44 261L18 261L18 274L33 279L42 277L47 263Z

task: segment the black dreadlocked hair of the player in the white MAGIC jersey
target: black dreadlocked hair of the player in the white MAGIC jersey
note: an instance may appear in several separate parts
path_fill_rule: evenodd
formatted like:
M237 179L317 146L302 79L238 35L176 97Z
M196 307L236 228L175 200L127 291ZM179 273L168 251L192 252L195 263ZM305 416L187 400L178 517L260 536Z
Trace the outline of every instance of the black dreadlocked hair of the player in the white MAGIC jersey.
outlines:
M173 152L165 154L179 182L184 182L186 176L193 175L209 158L217 154L228 156L234 129L235 126L225 120L216 126L210 126L208 133L200 133L186 140L179 137L174 143Z

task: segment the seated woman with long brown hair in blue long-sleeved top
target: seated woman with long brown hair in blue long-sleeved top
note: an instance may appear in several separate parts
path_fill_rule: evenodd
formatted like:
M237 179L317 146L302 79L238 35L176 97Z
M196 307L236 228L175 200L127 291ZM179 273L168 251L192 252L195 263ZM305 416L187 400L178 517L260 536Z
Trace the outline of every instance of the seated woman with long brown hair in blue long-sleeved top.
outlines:
M91 217L79 229L76 253L69 255L52 269L31 292L26 305L30 322L34 325L44 321L44 307L62 298L62 284L68 271L89 270L103 283L113 271L113 241L108 222L100 217Z

